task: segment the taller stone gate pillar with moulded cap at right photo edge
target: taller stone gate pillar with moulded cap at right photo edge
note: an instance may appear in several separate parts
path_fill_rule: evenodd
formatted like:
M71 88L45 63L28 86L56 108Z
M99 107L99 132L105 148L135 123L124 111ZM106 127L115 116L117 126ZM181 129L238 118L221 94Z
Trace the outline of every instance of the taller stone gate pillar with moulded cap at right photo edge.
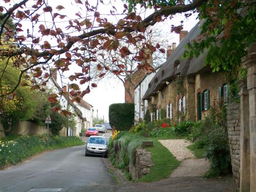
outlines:
M242 58L247 68L247 89L249 92L250 127L250 191L256 192L256 42L248 48L248 55Z

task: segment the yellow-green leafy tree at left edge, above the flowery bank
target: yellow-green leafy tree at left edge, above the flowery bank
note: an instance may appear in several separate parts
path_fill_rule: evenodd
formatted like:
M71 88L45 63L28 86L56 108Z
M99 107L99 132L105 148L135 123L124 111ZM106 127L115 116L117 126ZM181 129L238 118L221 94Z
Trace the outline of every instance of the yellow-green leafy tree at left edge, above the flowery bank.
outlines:
M6 94L0 101L1 122L4 125L5 134L8 135L18 121L33 118L41 103L41 93L28 87L18 86L15 93L7 94L18 81L18 70L0 63L0 76L2 77L0 91Z

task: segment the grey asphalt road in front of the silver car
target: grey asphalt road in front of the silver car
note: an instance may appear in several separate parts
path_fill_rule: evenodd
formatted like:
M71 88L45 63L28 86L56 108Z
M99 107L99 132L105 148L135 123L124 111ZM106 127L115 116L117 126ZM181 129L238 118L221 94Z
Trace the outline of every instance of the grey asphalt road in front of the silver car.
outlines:
M0 170L0 192L16 191L108 192L115 191L115 181L101 157L85 157L84 146L75 146Z

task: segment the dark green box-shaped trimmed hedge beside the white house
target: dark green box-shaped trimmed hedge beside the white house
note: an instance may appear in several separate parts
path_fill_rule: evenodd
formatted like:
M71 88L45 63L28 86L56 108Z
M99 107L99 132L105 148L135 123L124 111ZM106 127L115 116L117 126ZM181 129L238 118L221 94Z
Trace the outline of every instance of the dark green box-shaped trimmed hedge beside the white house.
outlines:
M109 107L110 125L118 131L130 130L134 124L134 103L114 103Z

